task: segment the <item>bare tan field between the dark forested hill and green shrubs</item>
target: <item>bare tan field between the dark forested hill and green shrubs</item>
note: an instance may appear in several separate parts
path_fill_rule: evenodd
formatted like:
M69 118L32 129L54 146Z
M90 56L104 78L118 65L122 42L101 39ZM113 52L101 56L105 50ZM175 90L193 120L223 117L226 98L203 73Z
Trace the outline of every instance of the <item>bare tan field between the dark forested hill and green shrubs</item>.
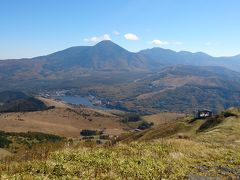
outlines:
M64 137L79 137L81 129L105 129L105 133L124 132L119 117L106 111L73 108L62 102L41 99L56 108L46 111L0 114L0 130L8 132L44 132Z

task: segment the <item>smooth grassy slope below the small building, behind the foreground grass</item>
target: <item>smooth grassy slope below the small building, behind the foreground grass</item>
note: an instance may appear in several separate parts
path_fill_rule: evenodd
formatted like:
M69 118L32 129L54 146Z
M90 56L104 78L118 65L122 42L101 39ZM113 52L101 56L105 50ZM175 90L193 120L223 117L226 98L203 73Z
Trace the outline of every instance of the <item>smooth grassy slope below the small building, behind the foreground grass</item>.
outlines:
M212 118L194 119L187 116L142 132L128 133L119 138L124 142L159 138L185 138L210 143L237 144L240 139L239 127L240 109L233 108Z

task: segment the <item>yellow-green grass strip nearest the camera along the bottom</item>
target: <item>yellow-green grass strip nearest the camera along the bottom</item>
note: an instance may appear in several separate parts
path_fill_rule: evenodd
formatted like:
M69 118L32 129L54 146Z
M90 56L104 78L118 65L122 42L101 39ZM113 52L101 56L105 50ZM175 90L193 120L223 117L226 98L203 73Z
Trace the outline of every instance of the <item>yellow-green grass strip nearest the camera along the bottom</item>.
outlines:
M184 179L191 175L236 177L240 151L185 139L162 139L102 147L78 145L45 160L0 165L13 179Z

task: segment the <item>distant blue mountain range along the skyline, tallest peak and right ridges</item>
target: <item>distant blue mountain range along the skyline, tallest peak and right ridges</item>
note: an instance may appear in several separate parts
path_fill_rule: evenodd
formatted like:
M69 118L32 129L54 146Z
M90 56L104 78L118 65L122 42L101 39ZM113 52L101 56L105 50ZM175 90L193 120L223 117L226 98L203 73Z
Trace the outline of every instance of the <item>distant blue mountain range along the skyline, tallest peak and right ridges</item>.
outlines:
M240 72L240 55L212 57L204 53L153 48L132 53L111 41L78 46L32 59L0 61L0 80L61 79L86 71L152 71L170 65L222 66Z

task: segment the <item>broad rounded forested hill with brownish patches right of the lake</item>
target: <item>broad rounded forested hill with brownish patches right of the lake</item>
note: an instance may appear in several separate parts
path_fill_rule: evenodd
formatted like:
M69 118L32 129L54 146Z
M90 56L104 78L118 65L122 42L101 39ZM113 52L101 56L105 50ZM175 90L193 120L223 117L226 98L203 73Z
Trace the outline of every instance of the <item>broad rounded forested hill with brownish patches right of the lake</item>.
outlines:
M118 106L130 111L218 112L240 106L240 73L223 67L175 65L117 86L114 91L127 92Z

